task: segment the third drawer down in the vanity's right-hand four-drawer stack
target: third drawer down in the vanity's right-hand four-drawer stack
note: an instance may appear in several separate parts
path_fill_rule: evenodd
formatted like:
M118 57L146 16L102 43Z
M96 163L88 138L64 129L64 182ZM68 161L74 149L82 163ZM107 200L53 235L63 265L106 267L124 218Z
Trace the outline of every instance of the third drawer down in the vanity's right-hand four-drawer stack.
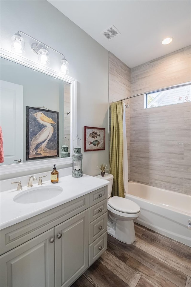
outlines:
M90 223L89 244L107 231L107 212Z

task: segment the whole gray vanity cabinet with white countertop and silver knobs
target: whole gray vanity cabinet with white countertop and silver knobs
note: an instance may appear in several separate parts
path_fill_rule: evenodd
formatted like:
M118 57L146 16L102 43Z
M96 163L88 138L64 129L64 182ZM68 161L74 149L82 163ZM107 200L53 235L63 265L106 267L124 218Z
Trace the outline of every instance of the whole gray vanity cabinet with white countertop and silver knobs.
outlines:
M23 215L12 221L1 218L0 286L70 286L107 248L107 181L67 176L59 185L63 192L53 199L11 202L18 214L24 208ZM14 198L19 191L4 191L3 197L5 193Z

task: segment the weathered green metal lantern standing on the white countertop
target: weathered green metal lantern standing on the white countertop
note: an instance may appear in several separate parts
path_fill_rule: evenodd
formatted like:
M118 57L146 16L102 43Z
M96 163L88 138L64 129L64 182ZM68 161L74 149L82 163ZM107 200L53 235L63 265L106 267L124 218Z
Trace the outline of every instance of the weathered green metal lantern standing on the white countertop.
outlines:
M76 139L77 138L78 138L78 136L76 136ZM74 146L74 140L73 140L73 146ZM80 140L80 146L77 145L75 148L73 147L73 151L74 151L74 154L72 155L72 176L73 177L82 177L82 175L83 175L81 139L79 139L79 140Z

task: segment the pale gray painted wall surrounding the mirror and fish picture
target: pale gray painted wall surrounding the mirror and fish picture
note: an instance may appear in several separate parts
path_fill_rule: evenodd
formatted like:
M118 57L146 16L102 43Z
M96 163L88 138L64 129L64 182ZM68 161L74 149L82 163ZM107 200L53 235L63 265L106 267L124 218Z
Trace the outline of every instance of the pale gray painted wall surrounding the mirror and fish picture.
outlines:
M77 79L77 133L84 146L84 126L106 128L104 151L83 152L83 172L98 174L108 164L108 51L47 1L1 1L1 46L21 30L63 53L69 76Z

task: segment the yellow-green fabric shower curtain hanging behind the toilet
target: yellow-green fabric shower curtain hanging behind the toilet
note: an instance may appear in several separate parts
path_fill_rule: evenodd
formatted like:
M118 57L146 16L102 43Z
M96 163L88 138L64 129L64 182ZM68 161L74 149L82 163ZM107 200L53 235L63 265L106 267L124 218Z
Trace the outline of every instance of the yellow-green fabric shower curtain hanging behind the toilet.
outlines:
M124 197L124 186L126 186L126 181L128 183L124 112L123 102L119 101L111 104L110 173L113 174L112 196L117 195L120 197ZM124 156L126 159L123 160Z

